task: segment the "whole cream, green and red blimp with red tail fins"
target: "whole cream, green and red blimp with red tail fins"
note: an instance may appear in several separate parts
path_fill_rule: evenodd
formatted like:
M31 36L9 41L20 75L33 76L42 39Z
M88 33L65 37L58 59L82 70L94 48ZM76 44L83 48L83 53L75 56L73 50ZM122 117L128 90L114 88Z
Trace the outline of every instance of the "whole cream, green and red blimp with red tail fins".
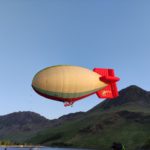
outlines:
M70 65L59 65L39 71L32 80L33 89L41 96L65 102L65 106L96 93L99 98L118 96L113 69L92 70Z

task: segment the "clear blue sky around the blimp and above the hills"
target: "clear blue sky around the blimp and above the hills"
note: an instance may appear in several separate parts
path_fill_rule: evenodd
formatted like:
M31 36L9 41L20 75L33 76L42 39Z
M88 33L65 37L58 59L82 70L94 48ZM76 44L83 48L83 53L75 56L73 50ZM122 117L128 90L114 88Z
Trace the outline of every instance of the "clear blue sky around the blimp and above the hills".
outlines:
M114 68L119 90L150 91L149 6L149 0L1 0L0 115L33 111L54 119L103 101L93 95L64 107L37 95L34 75L59 64Z

